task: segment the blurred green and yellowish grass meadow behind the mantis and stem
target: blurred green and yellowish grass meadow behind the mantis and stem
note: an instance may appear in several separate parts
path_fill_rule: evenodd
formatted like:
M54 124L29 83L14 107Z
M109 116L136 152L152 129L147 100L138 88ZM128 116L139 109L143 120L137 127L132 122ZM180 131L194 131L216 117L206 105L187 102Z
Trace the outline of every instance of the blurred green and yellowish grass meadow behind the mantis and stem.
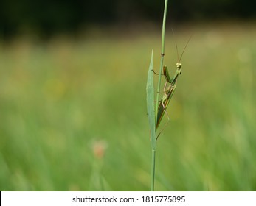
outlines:
M181 53L193 38L157 145L156 191L256 190L254 25L167 32L172 74L175 41ZM95 34L1 43L1 191L149 190L145 86L161 34Z

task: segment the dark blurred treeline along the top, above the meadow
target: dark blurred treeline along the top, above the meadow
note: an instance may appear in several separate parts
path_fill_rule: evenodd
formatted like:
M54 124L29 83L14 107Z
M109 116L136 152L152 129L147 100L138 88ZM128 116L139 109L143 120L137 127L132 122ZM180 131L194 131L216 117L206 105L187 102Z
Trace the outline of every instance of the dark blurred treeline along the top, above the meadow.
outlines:
M74 32L93 24L159 23L165 0L1 0L0 34ZM172 21L255 18L252 0L170 0Z

